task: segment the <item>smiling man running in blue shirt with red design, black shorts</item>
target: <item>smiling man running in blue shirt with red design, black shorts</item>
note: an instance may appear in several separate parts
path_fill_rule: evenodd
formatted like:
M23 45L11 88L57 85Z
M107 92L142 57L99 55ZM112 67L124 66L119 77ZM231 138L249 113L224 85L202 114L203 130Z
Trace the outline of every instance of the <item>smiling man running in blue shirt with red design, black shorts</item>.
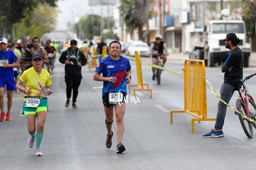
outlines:
M100 61L96 67L93 79L103 81L102 99L106 114L106 129L108 130L106 138L106 147L111 148L112 145L112 125L114 112L117 122L117 147L116 153L122 153L126 150L122 144L122 136L124 134L124 113L126 111L126 84L130 83L132 70L130 62L126 57L120 56L121 43L112 41L109 44L109 56ZM102 76L101 76L102 74ZM112 97L116 96L116 98Z

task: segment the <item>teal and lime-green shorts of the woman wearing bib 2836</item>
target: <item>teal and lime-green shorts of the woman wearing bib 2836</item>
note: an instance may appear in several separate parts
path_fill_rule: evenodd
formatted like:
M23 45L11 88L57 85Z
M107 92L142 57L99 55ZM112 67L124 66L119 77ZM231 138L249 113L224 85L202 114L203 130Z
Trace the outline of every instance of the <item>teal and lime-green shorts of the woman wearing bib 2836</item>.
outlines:
M23 108L22 108L22 114L24 114L25 116L27 114L36 114L40 111L46 111L46 113L48 112L48 101L45 98L40 99L40 104L37 108L25 107L25 103L26 103L26 101L23 102Z

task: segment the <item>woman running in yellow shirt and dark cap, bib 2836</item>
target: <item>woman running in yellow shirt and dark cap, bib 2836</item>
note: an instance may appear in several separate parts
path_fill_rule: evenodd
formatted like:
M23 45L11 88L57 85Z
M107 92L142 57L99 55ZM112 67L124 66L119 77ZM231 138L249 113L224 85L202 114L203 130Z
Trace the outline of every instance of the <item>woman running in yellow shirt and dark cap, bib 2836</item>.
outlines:
M40 145L48 112L46 95L51 95L51 75L43 69L43 56L40 53L32 55L32 65L33 67L25 70L20 76L16 88L25 93L22 114L27 119L28 133L30 134L28 147L33 148L36 142L35 156L43 156ZM23 83L25 83L25 88L22 86Z

